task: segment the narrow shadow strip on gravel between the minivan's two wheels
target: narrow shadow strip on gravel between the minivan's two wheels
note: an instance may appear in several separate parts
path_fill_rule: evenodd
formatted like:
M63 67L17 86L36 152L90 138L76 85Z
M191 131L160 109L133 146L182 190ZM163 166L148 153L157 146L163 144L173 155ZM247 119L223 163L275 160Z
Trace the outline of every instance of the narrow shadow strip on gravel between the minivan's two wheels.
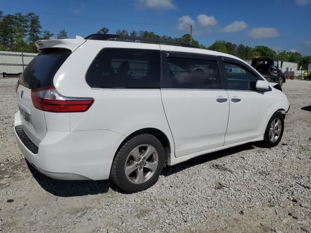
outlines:
M257 144L256 144L256 146L257 146ZM244 150L252 150L254 148L255 147L251 143L248 143L248 144L232 147L232 148L225 149L225 150L220 150L220 151L216 151L216 152L212 152L212 153L208 153L208 154L203 154L203 155L200 155L198 157L187 160L185 162L182 162L182 163L179 163L179 164L176 164L173 166L167 166L167 167L163 168L162 175L163 176L170 176L174 173L178 173L178 172L180 172L184 169L187 169L191 166L204 164L204 163L207 163L209 161L217 160L219 158L222 158L222 157L225 157L228 155L232 155L232 154L244 151Z

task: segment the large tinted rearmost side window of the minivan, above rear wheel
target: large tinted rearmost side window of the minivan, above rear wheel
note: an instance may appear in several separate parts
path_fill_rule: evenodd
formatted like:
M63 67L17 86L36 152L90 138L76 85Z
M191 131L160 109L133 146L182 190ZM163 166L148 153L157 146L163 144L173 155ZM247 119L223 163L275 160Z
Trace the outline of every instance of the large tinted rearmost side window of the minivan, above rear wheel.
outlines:
M103 49L88 68L86 83L98 88L159 88L160 51Z

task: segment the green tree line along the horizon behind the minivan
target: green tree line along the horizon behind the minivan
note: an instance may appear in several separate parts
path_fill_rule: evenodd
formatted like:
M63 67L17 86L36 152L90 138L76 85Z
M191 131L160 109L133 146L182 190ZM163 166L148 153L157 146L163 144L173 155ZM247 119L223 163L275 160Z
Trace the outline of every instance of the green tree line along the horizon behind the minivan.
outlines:
M106 34L109 33L109 29L103 27L97 33ZM127 30L117 30L116 34L120 35L131 35L139 37L148 37L153 39L162 39L173 42L190 43L190 34L184 34L181 37L172 37L169 35L158 35L154 32L148 31L135 31L128 32ZM35 47L35 41L40 39L49 39L54 37L54 33L50 31L42 31L39 16L35 13L30 12L26 15L21 13L16 13L15 15L2 15L0 11L0 50L7 51L21 51L24 52L37 52ZM65 30L60 30L57 34L57 39L68 38L68 33ZM148 41L135 41L127 39L116 39L119 41L131 41L131 42L141 42L150 43ZM252 60L254 56L267 56L273 57L278 60L283 60L287 62L298 63L298 68L302 66L302 69L307 68L307 62L311 60L311 56L303 56L301 53L296 51L279 51L276 53L275 50L267 46L255 46L249 47L243 44L236 45L234 43L217 40L209 47L202 45L199 41L192 38L192 45L206 50L214 50L219 52L228 53L243 60ZM154 42L152 42L154 43Z

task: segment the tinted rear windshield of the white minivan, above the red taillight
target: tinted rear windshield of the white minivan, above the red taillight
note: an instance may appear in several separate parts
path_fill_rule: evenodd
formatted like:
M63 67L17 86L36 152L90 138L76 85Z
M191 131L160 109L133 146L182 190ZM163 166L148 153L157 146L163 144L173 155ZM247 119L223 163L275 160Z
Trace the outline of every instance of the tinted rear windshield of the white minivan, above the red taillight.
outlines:
M53 85L54 75L70 53L70 50L60 48L42 50L27 65L19 78L19 83L29 89Z

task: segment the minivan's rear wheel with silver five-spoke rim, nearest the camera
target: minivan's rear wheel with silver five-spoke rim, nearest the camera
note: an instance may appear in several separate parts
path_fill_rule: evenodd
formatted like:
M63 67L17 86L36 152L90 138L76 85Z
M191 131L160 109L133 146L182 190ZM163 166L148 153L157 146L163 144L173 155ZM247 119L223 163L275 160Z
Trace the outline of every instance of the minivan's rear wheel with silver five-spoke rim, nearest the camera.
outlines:
M155 136L134 135L117 151L110 177L126 192L142 191L156 183L164 160L163 146Z

